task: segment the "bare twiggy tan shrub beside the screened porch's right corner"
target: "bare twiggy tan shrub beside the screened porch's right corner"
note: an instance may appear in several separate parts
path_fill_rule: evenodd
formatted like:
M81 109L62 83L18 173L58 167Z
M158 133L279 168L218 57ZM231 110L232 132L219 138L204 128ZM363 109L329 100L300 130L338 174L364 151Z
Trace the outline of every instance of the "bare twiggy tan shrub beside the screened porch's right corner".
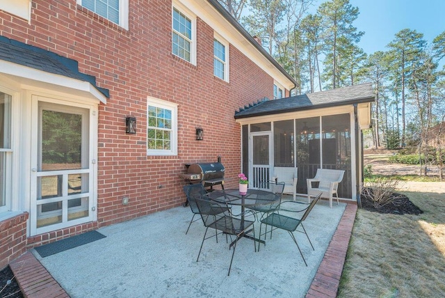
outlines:
M396 198L401 198L401 194L396 194L396 187L401 187L400 181L388 176L378 176L372 181L366 183L362 188L362 196L365 196L373 202L375 209L379 209Z

